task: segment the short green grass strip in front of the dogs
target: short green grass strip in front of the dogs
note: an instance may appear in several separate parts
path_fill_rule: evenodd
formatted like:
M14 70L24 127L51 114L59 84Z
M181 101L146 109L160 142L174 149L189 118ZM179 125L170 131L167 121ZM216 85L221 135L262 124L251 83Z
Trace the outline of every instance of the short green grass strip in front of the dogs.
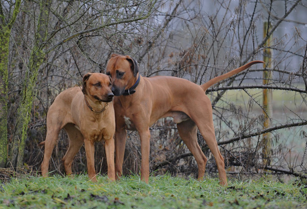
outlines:
M280 183L266 179L230 180L227 187L217 179L204 181L168 175L138 176L109 182L86 175L26 177L0 186L0 208L306 208L307 189L300 182Z

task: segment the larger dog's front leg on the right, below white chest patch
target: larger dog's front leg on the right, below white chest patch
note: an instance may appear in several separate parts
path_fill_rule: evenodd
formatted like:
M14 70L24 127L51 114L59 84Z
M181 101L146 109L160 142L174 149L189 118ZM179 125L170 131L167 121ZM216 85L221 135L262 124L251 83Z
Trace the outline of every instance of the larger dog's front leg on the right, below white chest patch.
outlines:
M149 128L139 131L141 139L141 180L148 183L149 178L149 152L150 152L150 132Z

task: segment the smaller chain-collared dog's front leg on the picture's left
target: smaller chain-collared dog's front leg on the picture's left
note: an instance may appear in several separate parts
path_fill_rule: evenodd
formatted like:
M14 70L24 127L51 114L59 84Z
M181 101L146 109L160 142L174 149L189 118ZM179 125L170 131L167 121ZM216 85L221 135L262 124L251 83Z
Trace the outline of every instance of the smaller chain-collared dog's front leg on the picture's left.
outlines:
M97 182L96 178L96 171L95 171L95 147L94 142L92 140L84 140L85 146L85 154L86 154L86 161L87 161L87 173L89 174L89 178L93 182Z

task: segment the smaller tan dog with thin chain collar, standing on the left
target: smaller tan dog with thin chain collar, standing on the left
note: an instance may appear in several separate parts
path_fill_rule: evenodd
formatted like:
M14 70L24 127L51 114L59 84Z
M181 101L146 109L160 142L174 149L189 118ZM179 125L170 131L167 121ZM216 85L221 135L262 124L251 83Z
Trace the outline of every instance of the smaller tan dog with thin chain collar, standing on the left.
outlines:
M92 181L97 181L94 165L94 142L105 141L107 175L115 180L114 132L115 117L112 104L112 81L100 73L87 73L83 77L83 88L73 87L61 92L50 106L47 114L47 136L45 153L41 164L42 176L48 176L49 160L59 131L64 128L69 136L69 148L62 161L66 174L72 173L72 162L83 142L85 144L87 172ZM86 104L85 101L88 104ZM91 110L90 107L93 109ZM94 111L101 111L94 112Z

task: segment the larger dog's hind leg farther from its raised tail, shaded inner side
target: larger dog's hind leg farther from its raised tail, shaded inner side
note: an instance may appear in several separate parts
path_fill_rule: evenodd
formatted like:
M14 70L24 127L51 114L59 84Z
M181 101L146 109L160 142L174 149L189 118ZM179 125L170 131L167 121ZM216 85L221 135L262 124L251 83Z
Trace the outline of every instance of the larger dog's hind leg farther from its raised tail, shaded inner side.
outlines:
M192 120L183 121L177 124L178 132L183 142L193 154L198 165L198 178L202 179L205 174L207 157L197 142L197 127Z

